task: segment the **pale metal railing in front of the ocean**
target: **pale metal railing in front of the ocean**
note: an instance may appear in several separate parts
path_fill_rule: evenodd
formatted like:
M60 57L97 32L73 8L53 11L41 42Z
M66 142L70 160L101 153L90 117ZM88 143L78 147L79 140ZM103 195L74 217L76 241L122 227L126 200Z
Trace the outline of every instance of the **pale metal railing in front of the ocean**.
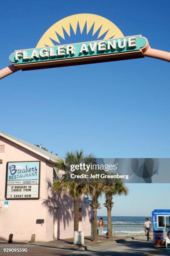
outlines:
M153 235L153 228L150 228ZM116 225L112 224L112 236L145 236L143 225Z

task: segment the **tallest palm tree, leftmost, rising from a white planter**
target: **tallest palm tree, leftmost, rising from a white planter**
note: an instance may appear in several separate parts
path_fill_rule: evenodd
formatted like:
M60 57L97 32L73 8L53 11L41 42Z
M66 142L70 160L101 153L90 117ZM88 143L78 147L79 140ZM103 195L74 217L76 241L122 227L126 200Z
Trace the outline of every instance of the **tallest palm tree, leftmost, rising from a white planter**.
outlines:
M83 194L87 192L87 184L77 183L75 180L71 182L66 182L67 172L70 172L70 166L72 164L90 164L94 159L92 154L85 156L83 151L71 151L66 153L65 160L59 159L57 161L56 167L58 170L64 169L65 175L63 175L62 180L57 180L53 183L53 189L56 192L62 192L69 195L74 200L74 231L78 231L79 223L79 199Z

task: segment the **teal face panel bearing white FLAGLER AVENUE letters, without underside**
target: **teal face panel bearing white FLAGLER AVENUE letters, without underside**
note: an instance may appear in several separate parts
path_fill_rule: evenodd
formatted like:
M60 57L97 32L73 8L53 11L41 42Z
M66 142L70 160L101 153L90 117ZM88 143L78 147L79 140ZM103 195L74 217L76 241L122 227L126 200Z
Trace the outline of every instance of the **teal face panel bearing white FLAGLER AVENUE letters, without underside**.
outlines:
M10 55L10 62L15 65L22 65L88 56L120 54L131 51L140 51L146 44L146 38L139 35L102 41L23 49L16 50L12 53Z

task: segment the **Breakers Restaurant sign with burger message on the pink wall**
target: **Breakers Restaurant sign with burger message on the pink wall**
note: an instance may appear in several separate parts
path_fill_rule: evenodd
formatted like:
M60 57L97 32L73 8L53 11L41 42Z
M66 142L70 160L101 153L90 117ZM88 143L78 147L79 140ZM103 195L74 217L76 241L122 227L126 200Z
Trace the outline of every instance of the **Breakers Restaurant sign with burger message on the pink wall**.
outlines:
M38 199L40 162L8 162L6 199Z

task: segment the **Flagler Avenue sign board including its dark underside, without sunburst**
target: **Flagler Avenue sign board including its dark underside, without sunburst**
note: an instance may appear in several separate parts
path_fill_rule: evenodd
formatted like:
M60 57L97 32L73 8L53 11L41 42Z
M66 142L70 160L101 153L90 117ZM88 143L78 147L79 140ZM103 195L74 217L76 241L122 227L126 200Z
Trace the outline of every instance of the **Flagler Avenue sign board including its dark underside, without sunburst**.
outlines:
M16 50L10 62L20 68L39 68L46 65L75 65L143 57L142 49L148 40L141 36L128 36L53 47ZM33 68L34 69L34 68Z

